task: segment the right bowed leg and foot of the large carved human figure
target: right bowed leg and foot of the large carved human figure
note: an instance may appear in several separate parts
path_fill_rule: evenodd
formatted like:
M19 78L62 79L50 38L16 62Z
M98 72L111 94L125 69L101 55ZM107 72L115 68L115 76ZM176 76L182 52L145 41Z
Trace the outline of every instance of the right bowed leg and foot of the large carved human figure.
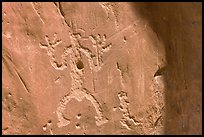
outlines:
M86 93L86 96L85 96L86 99L89 100L93 104L93 106L96 110L96 114L97 114L97 116L95 116L96 125L101 126L101 125L107 123L108 120L107 120L107 118L105 118L103 116L102 109L101 109L99 102L97 102L97 100L94 98L93 95L87 93L87 91L84 91L84 92Z

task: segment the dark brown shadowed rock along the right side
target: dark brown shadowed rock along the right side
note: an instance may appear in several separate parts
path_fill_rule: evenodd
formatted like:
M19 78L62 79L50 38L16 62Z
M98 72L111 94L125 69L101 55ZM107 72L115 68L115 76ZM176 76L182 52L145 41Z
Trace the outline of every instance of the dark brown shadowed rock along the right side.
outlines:
M202 3L130 4L164 43L165 134L202 134Z

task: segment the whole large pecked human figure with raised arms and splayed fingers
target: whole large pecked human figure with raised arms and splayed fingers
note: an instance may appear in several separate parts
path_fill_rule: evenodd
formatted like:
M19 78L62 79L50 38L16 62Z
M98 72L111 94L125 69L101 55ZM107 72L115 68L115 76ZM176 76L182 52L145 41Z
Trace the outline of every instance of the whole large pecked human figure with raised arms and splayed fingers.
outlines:
M57 117L59 119L58 127L66 126L70 123L69 119L66 119L63 112L66 108L66 104L71 99L76 99L81 102L84 98L89 100L94 106L97 116L96 124L98 126L103 125L108 122L108 120L103 116L102 108L96 98L83 86L83 76L84 76L84 65L82 62L82 53L88 58L91 70L97 72L103 66L102 55L111 48L111 44L105 44L105 35L101 37L97 35L96 37L90 36L90 40L93 42L93 47L96 49L96 55L93 55L89 49L84 48L80 45L79 39L83 39L80 34L70 33L71 45L65 47L64 53L61 56L61 64L57 63L54 52L55 47L61 44L62 40L56 40L56 34L54 35L54 40L50 41L48 36L45 37L46 44L40 43L40 47L47 50L47 54L50 57L50 63L56 70L64 70L67 68L67 56L70 56L70 75L72 79L71 91L66 94L61 100L57 108ZM96 60L96 61L95 61ZM95 63L96 62L96 63Z

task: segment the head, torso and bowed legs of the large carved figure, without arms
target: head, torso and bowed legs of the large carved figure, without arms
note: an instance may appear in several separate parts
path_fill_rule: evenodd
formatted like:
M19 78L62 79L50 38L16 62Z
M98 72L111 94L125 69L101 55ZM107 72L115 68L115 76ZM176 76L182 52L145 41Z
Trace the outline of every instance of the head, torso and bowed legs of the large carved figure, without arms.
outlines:
M81 102L84 98L86 98L92 103L97 113L97 116L95 117L95 119L96 119L96 124L98 126L108 121L106 118L104 118L102 114L102 109L99 102L96 100L96 98L93 95L90 94L90 91L88 91L86 88L83 87L82 78L84 76L84 69L83 69L83 62L82 62L80 51L84 51L84 49L81 48L78 38L80 38L80 35L78 34L74 35L70 33L70 39L71 39L70 75L72 78L72 87L71 87L70 93L68 93L61 99L59 106L57 108L57 116L59 119L58 127L63 127L70 123L69 120L64 118L63 112L66 108L66 104L73 98L79 102Z

